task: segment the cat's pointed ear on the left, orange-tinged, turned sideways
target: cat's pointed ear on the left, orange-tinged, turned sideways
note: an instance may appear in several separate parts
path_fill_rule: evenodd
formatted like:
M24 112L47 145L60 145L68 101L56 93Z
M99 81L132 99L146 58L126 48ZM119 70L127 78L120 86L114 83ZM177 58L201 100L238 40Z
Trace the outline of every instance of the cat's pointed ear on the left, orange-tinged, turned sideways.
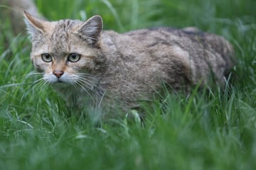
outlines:
M45 25L47 21L36 18L26 11L24 11L24 21L27 26L28 34L31 35L31 37L39 33L45 33Z

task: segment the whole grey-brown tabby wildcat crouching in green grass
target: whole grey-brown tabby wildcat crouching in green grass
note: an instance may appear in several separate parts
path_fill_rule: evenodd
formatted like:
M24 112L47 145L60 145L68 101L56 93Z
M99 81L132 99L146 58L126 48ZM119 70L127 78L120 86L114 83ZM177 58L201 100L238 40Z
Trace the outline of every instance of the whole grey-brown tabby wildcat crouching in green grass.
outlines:
M233 67L230 42L196 28L102 30L102 17L46 21L24 11L31 60L71 108L125 111L150 100L162 82L176 90L223 86Z

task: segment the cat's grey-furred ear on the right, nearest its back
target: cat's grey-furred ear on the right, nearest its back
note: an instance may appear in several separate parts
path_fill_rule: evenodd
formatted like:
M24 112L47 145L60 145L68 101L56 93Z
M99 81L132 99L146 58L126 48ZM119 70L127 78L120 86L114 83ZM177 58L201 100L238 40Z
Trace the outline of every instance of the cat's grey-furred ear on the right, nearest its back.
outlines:
M102 32L102 17L92 16L85 23L82 23L75 33L78 33L80 37L87 40L90 44L96 44L100 39Z

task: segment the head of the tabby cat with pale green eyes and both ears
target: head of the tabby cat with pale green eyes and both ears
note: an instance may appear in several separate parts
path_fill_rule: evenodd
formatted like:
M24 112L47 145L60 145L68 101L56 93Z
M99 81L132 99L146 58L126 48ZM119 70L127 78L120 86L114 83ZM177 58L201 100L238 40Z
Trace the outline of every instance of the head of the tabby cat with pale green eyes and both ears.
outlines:
M45 21L24 12L31 35L31 60L49 83L75 84L83 74L97 72L105 57L100 49L102 18Z

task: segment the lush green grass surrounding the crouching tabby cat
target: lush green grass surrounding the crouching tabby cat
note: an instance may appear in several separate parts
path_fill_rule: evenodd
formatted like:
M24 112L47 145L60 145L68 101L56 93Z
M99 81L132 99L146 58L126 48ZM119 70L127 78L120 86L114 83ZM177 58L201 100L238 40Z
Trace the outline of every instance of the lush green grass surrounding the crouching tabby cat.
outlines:
M230 40L236 66L224 90L166 91L144 106L144 125L135 117L95 127L83 115L68 115L50 87L31 86L38 77L27 75L34 72L30 42L11 33L7 18L0 36L0 169L256 169L256 1L36 4L50 20L100 14L105 29L118 32L196 26Z

